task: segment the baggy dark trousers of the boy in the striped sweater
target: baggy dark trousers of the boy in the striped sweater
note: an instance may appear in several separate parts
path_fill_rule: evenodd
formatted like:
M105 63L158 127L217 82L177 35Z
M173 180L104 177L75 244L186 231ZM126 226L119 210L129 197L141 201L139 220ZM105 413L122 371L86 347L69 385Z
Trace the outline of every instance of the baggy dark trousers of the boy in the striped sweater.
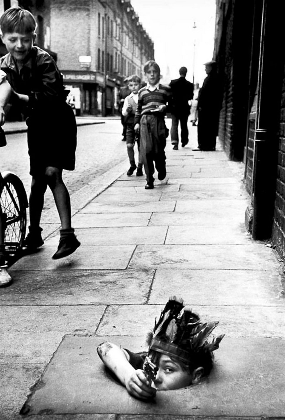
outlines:
M165 171L166 126L164 118L143 115L140 120L140 153L146 181L153 184L154 165L157 172Z

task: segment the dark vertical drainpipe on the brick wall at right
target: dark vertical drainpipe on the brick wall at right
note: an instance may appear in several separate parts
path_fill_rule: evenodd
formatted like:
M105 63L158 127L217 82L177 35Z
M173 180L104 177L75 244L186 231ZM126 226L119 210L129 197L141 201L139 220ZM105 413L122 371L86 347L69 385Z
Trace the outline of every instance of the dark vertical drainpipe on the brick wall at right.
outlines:
M256 128L253 155L253 239L269 239L272 232L272 142L269 135L270 43L267 29L267 1L263 0L259 54ZM268 124L269 122L269 124Z

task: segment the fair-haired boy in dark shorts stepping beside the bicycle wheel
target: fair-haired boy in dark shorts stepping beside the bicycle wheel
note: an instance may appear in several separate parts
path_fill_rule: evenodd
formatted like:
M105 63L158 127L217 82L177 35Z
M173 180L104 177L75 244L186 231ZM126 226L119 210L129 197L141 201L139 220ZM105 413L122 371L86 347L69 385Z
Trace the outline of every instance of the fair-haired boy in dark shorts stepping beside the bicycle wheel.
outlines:
M66 257L80 245L71 228L69 192L62 179L63 169L74 170L77 125L66 103L62 74L53 58L34 46L37 24L22 8L6 10L0 18L2 41L8 54L0 59L13 89L16 106L27 119L30 174L30 226L25 246L34 251L44 243L40 218L47 186L50 187L61 220L60 241L53 259Z

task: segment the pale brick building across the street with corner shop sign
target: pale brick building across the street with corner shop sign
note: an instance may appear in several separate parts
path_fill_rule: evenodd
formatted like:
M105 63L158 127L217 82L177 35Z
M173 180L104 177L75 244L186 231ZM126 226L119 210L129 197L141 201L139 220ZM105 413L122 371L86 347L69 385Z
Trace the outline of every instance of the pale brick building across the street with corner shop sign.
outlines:
M57 59L77 114L112 115L130 74L143 76L153 42L129 0L5 0L37 20L37 45ZM13 3L13 4L12 4Z

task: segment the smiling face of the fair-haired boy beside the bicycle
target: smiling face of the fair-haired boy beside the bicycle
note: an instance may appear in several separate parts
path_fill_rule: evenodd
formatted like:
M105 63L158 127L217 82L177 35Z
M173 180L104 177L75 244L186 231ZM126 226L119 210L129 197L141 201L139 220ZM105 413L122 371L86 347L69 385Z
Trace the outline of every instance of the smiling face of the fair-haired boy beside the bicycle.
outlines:
M1 35L8 53L16 61L24 61L34 45L36 34L19 34L18 32L7 32Z

